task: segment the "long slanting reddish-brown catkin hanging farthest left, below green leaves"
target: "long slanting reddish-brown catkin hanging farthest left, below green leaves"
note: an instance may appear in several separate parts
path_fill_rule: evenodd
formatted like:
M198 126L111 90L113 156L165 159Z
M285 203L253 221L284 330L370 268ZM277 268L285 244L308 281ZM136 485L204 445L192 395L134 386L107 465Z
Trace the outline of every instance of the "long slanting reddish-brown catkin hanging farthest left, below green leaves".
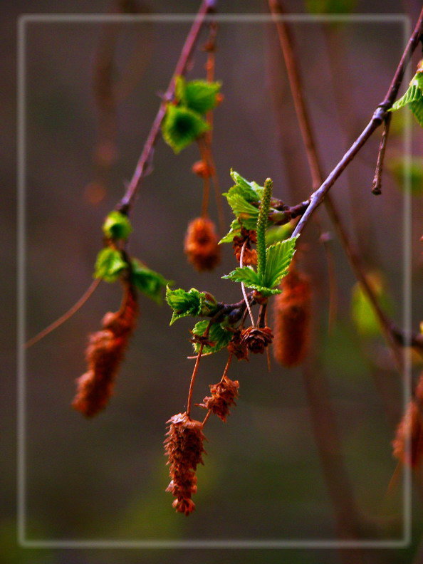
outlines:
M90 334L85 350L88 370L76 380L72 402L72 407L86 417L93 417L108 404L136 318L135 291L127 288L120 310L106 313L102 329Z

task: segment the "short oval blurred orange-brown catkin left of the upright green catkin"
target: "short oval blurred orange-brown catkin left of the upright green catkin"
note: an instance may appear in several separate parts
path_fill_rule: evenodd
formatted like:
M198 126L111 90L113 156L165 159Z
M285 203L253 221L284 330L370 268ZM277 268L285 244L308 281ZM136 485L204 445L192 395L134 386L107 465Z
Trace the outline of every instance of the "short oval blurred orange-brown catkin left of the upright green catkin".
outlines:
M208 271L220 261L220 247L213 221L197 217L188 226L184 252L197 271Z

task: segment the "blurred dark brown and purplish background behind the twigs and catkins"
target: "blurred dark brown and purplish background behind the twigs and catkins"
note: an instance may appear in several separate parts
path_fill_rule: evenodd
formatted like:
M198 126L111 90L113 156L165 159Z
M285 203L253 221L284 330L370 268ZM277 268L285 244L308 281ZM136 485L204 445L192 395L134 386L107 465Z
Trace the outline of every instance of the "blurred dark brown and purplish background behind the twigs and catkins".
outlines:
M117 1L3 1L2 31L8 51L1 56L5 88L2 184L6 205L4 262L14 263L15 21L19 14L116 11ZM125 2L139 13L184 14L194 1ZM293 13L345 11L410 17L419 2L286 1ZM231 1L221 14L267 14L265 2ZM92 281L102 245L100 226L132 176L152 120L179 56L190 22L104 24L96 21L26 23L26 338L58 318ZM342 157L384 98L407 36L404 21L382 23L293 23L305 98L318 137L325 171ZM188 78L204 78L202 33ZM113 107L95 101L95 62L113 56ZM418 61L416 54L412 70ZM410 74L410 78L411 75ZM224 103L214 112L214 158L224 192L229 169L263 184L272 177L276 197L288 204L310 194L310 176L296 124L286 71L272 23L221 21L216 79ZM404 91L404 87L401 92ZM104 102L104 100L103 100ZM103 110L102 110L103 108ZM411 230L413 328L422 319L423 135L413 125L412 182L404 182L407 110L395 113L387 149L382 196L371 194L380 132L335 184L350 237L377 281L388 313L404 319L404 241ZM175 156L157 142L154 170L142 182L132 213L130 253L175 282L175 287L211 291L219 301L241 298L239 285L221 280L234 256L223 246L221 264L197 273L183 252L187 224L199 216L202 182L191 172L196 145ZM223 200L223 199L222 199ZM407 216L407 202L411 216ZM224 202L226 223L230 210ZM313 286L313 347L303 367L286 369L266 357L233 363L229 377L240 382L237 407L226 424L212 418L204 466L198 470L196 511L174 513L162 441L165 422L184 410L193 361L187 318L169 328L170 310L140 298L140 320L117 378L109 406L93 420L71 409L75 378L85 372L87 335L98 330L106 311L117 310L120 288L102 283L71 320L28 350L26 356L25 513L28 541L298 541L298 550L70 550L16 546L16 432L14 386L1 394L4 456L0 550L7 563L182 563L211 562L423 562L422 481L415 476L413 538L409 548L311 550L301 543L337 538L340 515L355 531L351 540L401 541L404 535L402 474L391 442L404 404L403 382L375 323L362 306L355 278L323 210L320 226L330 236L337 283L335 323L328 324L329 278L315 221L301 237L299 266ZM217 219L211 203L211 216ZM223 235L224 233L221 233ZM3 281L5 303L14 286ZM355 296L355 297L354 297ZM355 315L352 312L355 312ZM8 312L9 315L9 312ZM358 318L358 320L357 320ZM14 314L4 325L2 357L8 377ZM414 375L422 370L412 358ZM224 352L202 361L194 392L199 402L219 380ZM317 383L316 383L317 382ZM314 391L313 391L314 390ZM319 395L323 390L323 395ZM319 396L316 397L315 394ZM314 399L313 399L314 394ZM316 405L327 405L335 427L326 429ZM195 417L202 417L198 410ZM323 413L324 416L324 413ZM216 420L214 420L216 419ZM339 444L330 444L331 434ZM328 458L335 464L328 465ZM335 470L335 474L331 474ZM333 503L333 491L338 501ZM347 514L345 516L345 514ZM423 554L423 553L422 553Z

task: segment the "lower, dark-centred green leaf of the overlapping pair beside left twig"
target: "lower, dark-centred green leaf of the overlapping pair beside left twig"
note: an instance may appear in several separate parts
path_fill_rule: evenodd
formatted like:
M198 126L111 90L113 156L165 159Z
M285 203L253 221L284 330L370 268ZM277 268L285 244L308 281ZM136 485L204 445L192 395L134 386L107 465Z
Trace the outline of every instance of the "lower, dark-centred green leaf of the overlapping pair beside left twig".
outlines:
M209 124L188 108L167 105L162 123L162 135L175 153L179 153L197 137L209 130Z

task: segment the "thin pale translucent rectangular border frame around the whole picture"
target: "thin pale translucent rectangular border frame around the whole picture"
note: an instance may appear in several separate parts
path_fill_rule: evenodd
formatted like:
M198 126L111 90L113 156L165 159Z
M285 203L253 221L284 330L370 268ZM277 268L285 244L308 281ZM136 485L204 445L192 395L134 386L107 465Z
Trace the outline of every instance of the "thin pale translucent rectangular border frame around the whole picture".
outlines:
M404 535L398 540L366 540L366 541L340 541L333 539L316 540L266 540L266 541L245 541L245 540L149 540L149 541L125 541L93 539L85 540L29 540L26 538L26 355L23 348L25 343L25 321L26 321L26 291L25 291L25 180L26 180L26 24L36 22L112 22L112 21L169 21L169 22L192 22L196 14L140 14L140 15L111 15L111 14L23 14L17 21L17 108L18 108L18 127L17 127L17 194L18 194L18 215L17 215L17 541L21 548L93 548L93 549L164 549L164 548L231 548L231 549L251 549L251 548L306 548L306 549L342 549L342 548L407 548L411 542L412 531L412 474L411 469L404 469L404 479L402 482L402 511L404 515L403 531ZM274 17L270 14L214 14L216 21L222 22L241 22L241 23L271 23ZM407 44L411 33L411 22L404 14L347 14L347 15L310 15L310 14L286 14L277 16L281 21L291 22L398 22L404 26L404 46ZM404 83L410 80L410 68L407 68ZM405 330L411 328L411 194L409 190L409 166L412 153L412 128L409 113L405 114L405 134L404 134L404 157L406 162L404 175L404 311L403 327ZM404 352L404 410L411 397L411 357ZM407 445L408 448L410 445Z

